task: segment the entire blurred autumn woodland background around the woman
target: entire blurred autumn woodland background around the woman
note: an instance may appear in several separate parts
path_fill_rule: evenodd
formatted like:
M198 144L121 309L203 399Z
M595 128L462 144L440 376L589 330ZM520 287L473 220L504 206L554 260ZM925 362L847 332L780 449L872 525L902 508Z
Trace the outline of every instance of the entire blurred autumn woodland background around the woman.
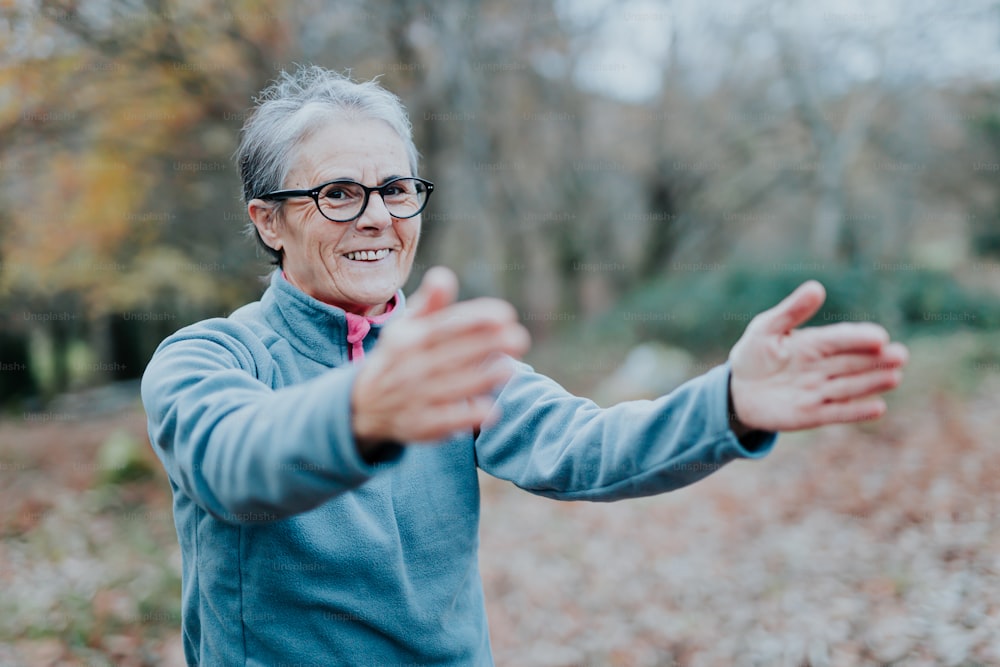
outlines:
M816 324L911 347L877 424L668 496L483 478L497 663L1000 665L1000 2L0 0L0 664L173 665L138 378L269 267L231 156L316 63L410 111L435 264L602 404Z

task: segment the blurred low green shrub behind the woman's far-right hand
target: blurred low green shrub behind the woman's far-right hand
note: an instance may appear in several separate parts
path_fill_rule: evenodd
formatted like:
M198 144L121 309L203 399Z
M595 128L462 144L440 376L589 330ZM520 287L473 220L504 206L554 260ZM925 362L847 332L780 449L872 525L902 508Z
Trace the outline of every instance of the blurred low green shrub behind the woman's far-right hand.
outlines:
M1000 296L970 289L944 272L814 269L801 263L675 273L635 290L598 326L606 336L623 335L624 329L636 339L719 354L736 342L753 315L809 278L823 283L827 299L807 326L873 321L895 338L1000 329Z

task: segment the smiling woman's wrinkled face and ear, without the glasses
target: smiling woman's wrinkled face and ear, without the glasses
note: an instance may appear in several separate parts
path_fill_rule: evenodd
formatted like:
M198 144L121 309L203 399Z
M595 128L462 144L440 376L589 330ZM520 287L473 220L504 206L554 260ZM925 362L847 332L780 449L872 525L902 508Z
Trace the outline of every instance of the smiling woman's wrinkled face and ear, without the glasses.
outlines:
M351 179L369 187L410 173L406 148L385 122L334 118L296 150L284 189L308 190ZM259 200L254 200L259 202ZM308 197L288 199L277 219L254 202L250 217L264 241L284 252L282 268L293 285L325 303L360 315L377 315L410 275L420 238L420 216L393 218L373 192L357 220L332 222ZM361 259L356 253L378 253ZM387 251L387 252L386 252ZM362 256L369 253L360 253Z

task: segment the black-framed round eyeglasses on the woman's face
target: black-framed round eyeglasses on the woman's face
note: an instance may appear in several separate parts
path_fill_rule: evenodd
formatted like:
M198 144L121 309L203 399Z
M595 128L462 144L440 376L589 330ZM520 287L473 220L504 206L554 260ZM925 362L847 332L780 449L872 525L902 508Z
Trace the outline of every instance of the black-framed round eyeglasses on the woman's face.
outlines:
M373 192L379 193L389 215L412 218L419 215L434 192L434 184L422 178L401 176L373 188L356 181L341 179L317 185L311 190L275 190L259 199L283 201L292 197L311 197L327 220L351 222L364 215Z

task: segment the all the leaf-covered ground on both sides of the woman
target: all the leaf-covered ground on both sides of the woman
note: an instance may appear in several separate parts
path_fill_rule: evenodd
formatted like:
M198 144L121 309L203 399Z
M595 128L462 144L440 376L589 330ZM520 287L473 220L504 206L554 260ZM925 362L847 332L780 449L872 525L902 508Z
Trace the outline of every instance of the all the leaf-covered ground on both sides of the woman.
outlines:
M1000 665L998 394L915 390L655 498L483 476L497 664ZM144 437L134 408L0 422L0 665L182 664L165 481L99 455Z

